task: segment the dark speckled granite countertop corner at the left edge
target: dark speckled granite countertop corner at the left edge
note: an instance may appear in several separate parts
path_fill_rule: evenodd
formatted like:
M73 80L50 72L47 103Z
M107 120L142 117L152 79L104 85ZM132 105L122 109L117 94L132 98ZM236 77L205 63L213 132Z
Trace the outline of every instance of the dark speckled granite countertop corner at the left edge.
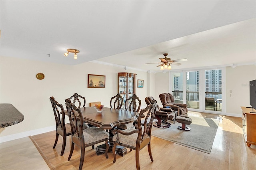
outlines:
M22 115L12 104L0 104L0 128L16 125L24 120Z

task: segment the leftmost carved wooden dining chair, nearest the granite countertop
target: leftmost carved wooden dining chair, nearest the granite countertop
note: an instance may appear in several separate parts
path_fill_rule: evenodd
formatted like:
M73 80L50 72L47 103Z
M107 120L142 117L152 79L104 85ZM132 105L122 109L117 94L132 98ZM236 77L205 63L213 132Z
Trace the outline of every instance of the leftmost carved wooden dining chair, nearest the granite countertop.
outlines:
M55 138L53 148L55 148L55 146L58 142L59 135L62 136L62 138L63 138L62 149L60 152L60 156L62 156L64 154L64 150L66 147L66 138L67 138L67 136L71 135L71 127L70 127L70 123L65 124L65 112L64 112L63 106L61 104L59 104L54 99L54 97L50 97L50 101L52 104L52 109L53 109L55 123L56 123L56 138ZM88 125L83 123L83 128L84 129L88 128Z

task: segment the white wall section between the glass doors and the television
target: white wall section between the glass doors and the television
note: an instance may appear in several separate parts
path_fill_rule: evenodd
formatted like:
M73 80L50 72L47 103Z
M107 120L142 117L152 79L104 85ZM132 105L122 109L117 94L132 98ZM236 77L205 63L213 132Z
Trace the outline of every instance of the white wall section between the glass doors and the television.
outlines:
M226 115L242 117L240 106L250 107L249 82L255 79L256 65L226 67Z

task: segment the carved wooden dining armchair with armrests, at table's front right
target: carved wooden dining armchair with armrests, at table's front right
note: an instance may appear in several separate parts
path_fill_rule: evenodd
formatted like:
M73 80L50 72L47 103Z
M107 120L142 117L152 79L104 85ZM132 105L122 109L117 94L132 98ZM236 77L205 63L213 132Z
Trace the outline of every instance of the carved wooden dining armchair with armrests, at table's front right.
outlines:
M144 126L142 126L142 115L146 114L144 119ZM140 150L145 146L148 146L148 153L151 161L153 162L151 147L150 147L150 138L151 138L151 128L154 117L156 115L156 100L152 100L145 109L141 109L140 114L137 119L136 128L129 128L126 130L114 129L113 130L113 142L114 146L112 152L114 155L114 161L116 162L116 145L124 146L135 150L135 160L136 168L140 169Z

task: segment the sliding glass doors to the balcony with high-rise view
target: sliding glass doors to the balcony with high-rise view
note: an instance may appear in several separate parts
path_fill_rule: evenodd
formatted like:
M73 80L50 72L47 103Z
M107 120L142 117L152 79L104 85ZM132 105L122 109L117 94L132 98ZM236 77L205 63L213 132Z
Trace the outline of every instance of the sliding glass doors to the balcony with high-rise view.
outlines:
M171 93L175 103L186 103L188 110L222 114L224 69L198 69L172 72Z

